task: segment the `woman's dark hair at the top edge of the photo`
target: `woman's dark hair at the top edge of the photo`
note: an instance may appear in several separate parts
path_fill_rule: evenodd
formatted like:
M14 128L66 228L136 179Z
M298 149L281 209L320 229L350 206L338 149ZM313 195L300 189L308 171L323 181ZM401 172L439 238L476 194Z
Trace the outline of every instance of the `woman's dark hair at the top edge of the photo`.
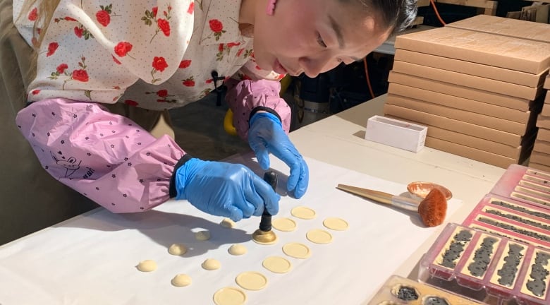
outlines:
M391 34L401 32L415 20L418 8L417 0L340 0L343 3L359 1L368 11L380 14L381 21Z

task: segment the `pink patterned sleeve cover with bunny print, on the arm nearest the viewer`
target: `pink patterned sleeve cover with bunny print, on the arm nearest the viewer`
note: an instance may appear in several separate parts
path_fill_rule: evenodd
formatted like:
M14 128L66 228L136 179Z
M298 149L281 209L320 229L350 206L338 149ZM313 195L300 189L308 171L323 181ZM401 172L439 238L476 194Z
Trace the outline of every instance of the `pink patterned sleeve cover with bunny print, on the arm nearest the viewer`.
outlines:
M114 213L167 201L173 168L185 155L169 136L156 139L100 104L42 100L16 122L52 177Z

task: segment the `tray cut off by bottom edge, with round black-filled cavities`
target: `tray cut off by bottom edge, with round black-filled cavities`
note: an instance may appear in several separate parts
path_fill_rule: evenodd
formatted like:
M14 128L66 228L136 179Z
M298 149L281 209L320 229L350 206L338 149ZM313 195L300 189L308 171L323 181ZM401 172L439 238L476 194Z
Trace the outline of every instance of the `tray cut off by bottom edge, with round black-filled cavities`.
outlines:
M368 304L477 305L481 303L405 277L391 275Z

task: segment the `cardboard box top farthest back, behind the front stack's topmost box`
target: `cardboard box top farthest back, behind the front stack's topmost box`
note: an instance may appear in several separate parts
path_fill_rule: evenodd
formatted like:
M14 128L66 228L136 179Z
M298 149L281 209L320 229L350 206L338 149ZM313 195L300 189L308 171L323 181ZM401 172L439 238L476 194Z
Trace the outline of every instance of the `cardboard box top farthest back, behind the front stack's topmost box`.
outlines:
M550 43L550 24L546 23L477 15L448 23L446 26Z

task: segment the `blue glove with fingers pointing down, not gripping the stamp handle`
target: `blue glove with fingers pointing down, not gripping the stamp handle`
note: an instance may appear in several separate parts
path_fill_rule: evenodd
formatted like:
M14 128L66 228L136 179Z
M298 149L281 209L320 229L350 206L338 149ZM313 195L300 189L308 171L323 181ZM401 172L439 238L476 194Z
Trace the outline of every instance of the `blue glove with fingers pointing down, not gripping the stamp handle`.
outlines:
M269 169L269 153L291 168L286 184L287 191L294 191L295 198L304 196L310 181L310 171L300 152L283 131L281 120L269 112L258 112L250 119L248 144L254 150L262 169Z

